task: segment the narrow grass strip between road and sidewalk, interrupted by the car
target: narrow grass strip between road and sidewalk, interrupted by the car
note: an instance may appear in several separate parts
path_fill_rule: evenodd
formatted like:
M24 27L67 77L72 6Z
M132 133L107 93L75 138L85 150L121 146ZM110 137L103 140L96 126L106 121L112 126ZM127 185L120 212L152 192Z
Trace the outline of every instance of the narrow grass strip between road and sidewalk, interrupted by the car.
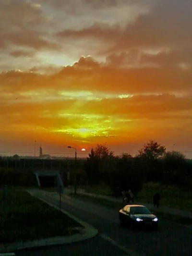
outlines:
M99 206L106 206L110 208L115 208L117 210L120 210L124 206L123 203L120 203L120 202L112 202L107 199L93 197L89 195L70 194L69 196L71 196L72 198L83 200L88 203L95 203L96 205L99 205ZM172 215L169 213L157 212L156 210L153 210L152 212L158 218L161 218L161 219L168 219L174 223L182 224L182 225L192 225L192 219L183 218L183 217Z

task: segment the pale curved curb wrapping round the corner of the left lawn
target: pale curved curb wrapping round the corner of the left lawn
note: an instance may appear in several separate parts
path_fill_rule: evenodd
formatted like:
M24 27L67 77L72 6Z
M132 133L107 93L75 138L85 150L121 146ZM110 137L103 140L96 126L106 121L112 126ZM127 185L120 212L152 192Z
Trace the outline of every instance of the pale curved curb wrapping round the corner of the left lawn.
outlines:
M50 205L51 207L54 207L58 210L60 210L59 207L54 206L53 204L49 203L48 201L44 200L40 196L34 195L32 192L27 191L30 195L37 197L44 203ZM5 254L11 251L16 250L22 250L22 249L29 249L29 248L36 248L36 247L43 247L43 246L51 246L51 245L60 245L60 244L71 244L71 243L77 243L80 241L84 241L87 239L90 239L97 235L98 231L89 225L88 223L82 221L81 219L76 218L72 214L61 210L62 213L66 214L70 218L74 219L76 222L79 222L84 228L80 231L78 234L74 234L71 236L58 236L58 237L51 237L47 239L40 239L40 240L34 240L30 242L16 242L12 244L5 244L2 248L0 248L0 256L13 256L14 253Z

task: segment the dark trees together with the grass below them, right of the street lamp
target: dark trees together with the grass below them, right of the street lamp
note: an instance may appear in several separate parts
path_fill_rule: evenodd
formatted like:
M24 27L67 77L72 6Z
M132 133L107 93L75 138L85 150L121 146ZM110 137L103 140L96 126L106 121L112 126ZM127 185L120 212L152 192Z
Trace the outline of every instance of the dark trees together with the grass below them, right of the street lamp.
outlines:
M107 146L97 145L84 171L86 180L80 176L79 187L87 193L120 197L131 189L136 201L153 203L158 192L161 206L192 211L192 160L156 141L145 144L135 157L115 156Z

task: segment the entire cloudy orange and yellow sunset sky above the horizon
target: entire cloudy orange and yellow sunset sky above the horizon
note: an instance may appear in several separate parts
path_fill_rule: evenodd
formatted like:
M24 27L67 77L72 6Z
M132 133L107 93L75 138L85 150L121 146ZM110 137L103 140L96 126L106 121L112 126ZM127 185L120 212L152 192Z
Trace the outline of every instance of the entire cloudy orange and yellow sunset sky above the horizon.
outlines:
M35 140L192 158L192 0L0 0L0 151Z

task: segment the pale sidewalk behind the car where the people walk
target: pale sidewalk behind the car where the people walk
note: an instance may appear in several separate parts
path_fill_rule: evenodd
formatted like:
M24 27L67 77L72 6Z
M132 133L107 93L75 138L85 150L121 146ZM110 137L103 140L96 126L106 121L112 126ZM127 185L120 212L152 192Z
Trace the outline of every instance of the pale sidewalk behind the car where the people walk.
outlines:
M69 192L67 189L65 189L65 194L70 194L72 192L73 192L72 190L70 190L70 192ZM106 200L109 200L112 202L122 202L121 198L115 198L115 197L108 196L108 195L90 194L90 193L84 192L83 189L78 189L77 193L82 194L82 195L89 195L89 196L97 197L97 198L103 198L103 199L106 199ZM192 212L190 212L190 211L182 211L182 210L179 210L176 208L170 208L170 207L166 207L166 206L162 206L162 207L160 206L159 208L154 208L154 206L152 204L141 203L141 202L135 202L135 204L141 204L141 205L144 204L147 208L149 208L151 210L155 209L156 211L159 211L159 212L169 213L172 215L177 215L180 217L192 219Z

